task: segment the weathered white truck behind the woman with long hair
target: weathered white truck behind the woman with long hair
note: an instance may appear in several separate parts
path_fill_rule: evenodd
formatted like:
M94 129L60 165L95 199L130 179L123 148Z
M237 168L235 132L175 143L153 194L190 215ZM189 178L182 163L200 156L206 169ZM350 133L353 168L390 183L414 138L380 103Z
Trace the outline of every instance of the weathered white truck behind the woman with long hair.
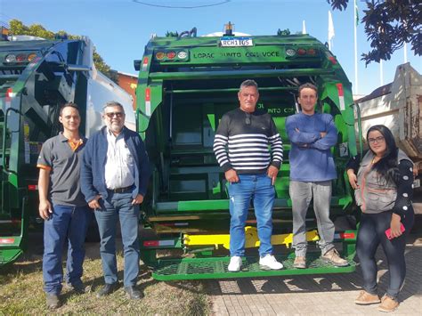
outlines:
M364 137L370 126L387 126L397 145L413 160L418 169L413 184L413 207L416 214L422 214L422 76L409 62L399 65L392 83L355 103L356 131L359 132L359 122ZM366 143L363 146L368 147Z

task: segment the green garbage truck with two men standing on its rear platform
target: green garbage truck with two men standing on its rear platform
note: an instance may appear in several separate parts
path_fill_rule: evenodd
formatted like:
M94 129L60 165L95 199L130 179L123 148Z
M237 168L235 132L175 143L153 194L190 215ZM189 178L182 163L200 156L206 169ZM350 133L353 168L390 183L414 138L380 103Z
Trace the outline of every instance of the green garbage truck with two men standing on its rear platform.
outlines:
M143 205L142 260L157 280L195 280L354 271L356 208L345 175L345 163L357 154L353 95L345 71L326 45L309 35L288 30L272 36L225 33L197 36L196 28L181 34L153 36L145 46L139 70L138 132L150 156L152 179ZM275 255L285 268L261 271L253 206L246 227L243 269L227 271L229 263L229 199L227 182L213 152L215 130L223 114L239 107L237 93L245 79L259 85L258 109L272 115L282 138L284 161L275 182L273 208ZM285 120L300 110L298 86L319 88L318 111L334 117L338 130L332 149L338 177L333 181L330 215L338 247L349 261L335 268L309 254L307 269L294 269L292 208L288 196L290 144ZM307 239L319 239L312 208ZM316 249L315 249L316 250Z

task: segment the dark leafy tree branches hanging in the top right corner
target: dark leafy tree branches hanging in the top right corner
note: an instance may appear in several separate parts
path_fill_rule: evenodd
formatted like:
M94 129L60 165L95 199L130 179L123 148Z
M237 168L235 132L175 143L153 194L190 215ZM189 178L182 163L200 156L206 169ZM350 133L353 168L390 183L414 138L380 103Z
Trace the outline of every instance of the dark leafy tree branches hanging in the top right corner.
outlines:
M349 0L327 0L333 10L343 11ZM362 61L387 61L394 51L410 43L415 55L422 54L422 4L418 0L371 0L361 22L372 50L362 53Z

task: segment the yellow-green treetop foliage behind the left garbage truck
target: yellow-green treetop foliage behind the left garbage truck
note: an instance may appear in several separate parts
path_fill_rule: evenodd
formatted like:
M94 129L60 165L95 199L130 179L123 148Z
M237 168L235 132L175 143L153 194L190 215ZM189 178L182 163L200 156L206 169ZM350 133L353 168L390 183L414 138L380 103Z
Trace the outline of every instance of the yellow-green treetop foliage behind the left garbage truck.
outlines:
M31 26L24 25L20 20L11 20L9 22L10 31L12 35L28 35L28 36L38 36L43 37L45 39L54 39L56 34L58 35L67 35L69 39L79 39L81 36L70 35L64 30L60 30L57 33L53 33L45 29L41 24L32 24ZM110 69L110 66L104 62L101 55L96 52L95 47L93 47L93 63L95 64L95 68L101 71L105 76L109 77L114 82L118 82L118 77L116 76L116 72Z

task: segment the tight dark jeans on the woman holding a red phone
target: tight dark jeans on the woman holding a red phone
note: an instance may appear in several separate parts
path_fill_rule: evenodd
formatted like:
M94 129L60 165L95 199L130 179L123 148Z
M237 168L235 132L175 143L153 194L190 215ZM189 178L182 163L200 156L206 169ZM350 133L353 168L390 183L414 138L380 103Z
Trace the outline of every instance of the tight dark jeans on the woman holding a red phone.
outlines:
M361 262L363 275L363 288L370 294L377 294L377 261L375 253L381 244L388 263L390 272L390 283L386 294L397 298L404 278L406 276L406 262L404 250L406 247L406 236L409 234L414 221L413 208L410 207L407 215L402 218L406 231L402 236L394 239L387 239L385 230L390 227L392 212L379 214L362 214L361 224L356 242L356 252Z

